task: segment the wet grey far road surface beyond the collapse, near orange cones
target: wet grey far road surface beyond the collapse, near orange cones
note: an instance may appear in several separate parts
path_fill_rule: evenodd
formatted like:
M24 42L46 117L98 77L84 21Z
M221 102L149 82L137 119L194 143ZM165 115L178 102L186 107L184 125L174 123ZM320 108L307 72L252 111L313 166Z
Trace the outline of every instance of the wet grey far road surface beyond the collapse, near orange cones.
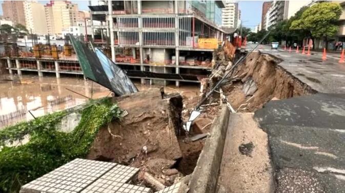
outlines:
M247 49L253 46L247 45ZM338 63L339 58L334 54L323 61L320 53L307 56L301 51L271 50L270 45L259 45L257 50L282 59L278 65L318 92L345 93L345 63Z

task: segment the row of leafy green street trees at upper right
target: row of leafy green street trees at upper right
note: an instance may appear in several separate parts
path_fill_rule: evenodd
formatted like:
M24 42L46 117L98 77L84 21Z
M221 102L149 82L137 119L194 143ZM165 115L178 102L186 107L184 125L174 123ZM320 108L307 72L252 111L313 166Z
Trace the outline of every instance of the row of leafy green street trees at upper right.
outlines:
M321 2L311 7L302 7L288 20L283 20L270 27L270 35L264 41L286 41L287 46L293 43L302 44L304 38L324 38L336 34L338 26L336 22L341 15L341 7L338 3ZM250 33L248 41L259 41L266 30L258 33Z

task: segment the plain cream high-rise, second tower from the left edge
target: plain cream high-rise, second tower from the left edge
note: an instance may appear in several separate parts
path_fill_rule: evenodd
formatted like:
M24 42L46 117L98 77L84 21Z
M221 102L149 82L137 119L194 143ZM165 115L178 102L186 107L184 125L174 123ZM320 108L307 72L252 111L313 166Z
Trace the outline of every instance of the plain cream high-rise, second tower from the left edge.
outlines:
M26 28L34 34L47 34L47 22L44 5L36 1L24 2Z

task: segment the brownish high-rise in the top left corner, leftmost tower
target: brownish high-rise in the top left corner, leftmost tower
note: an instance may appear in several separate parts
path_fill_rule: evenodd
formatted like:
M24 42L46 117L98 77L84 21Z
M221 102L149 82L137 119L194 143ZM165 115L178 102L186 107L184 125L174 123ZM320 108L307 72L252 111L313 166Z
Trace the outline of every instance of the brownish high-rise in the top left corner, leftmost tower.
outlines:
M10 18L13 25L20 23L25 26L23 1L3 1L2 7L4 17Z

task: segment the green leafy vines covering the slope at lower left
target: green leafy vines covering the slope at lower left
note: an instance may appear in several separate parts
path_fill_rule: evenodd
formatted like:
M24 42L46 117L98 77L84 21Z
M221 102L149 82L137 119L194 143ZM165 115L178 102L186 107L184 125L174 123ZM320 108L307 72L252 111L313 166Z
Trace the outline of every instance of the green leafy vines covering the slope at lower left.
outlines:
M30 141L0 151L0 192L17 192L24 185L75 158L85 157L98 130L119 118L122 111L109 99L90 101L82 110L78 126L70 133L56 125L69 112L56 112L0 131L0 145L23 139Z

